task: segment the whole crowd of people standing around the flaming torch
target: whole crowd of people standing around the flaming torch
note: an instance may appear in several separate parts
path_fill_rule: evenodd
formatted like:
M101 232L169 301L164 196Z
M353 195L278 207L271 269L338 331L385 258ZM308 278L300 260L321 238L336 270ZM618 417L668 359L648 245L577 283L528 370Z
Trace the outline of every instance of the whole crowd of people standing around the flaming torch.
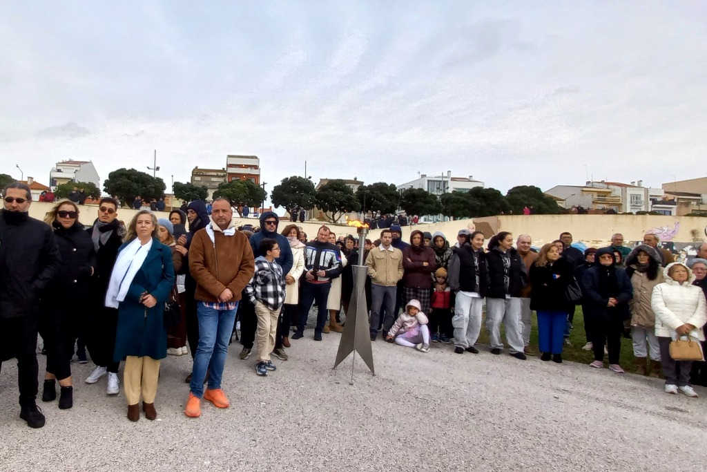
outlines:
M311 241L297 224L280 230L274 212L263 212L259 228L236 227L224 198L190 202L168 219L140 209L128 224L119 203L105 197L93 225L84 229L81 207L56 202L45 223L29 217L29 188L8 185L0 217L0 353L16 358L21 418L42 427L37 333L47 355L42 401L73 405L71 359L95 364L86 384L107 379L107 394L120 390L127 418L157 418L160 361L191 355L185 415L201 415L201 402L228 408L221 388L228 347L238 338L240 359L255 348L255 373L276 372L273 357L287 360L291 340L304 338L316 305L313 339L341 332L341 315L354 291L354 265L363 262L370 340L385 340L420 352L431 343L455 353L478 354L483 313L489 349L519 360L530 346L532 311L542 361L563 362L576 306L585 319L594 361L624 373L621 337L630 336L636 373L665 377L667 393L697 396L691 383L707 384L703 362L674 360L670 344L691 337L705 342L707 244L691 267L661 251L646 234L635 248L620 234L606 248L580 251L570 233L532 248L530 236L506 231L489 241L481 231L461 229L456 241L444 234L392 224L380 238L358 247L322 225ZM137 198L136 198L137 201ZM344 323L345 323L344 318ZM504 326L506 343L501 335ZM301 341L300 341L301 342ZM650 363L648 358L650 357ZM142 408L140 408L142 403Z

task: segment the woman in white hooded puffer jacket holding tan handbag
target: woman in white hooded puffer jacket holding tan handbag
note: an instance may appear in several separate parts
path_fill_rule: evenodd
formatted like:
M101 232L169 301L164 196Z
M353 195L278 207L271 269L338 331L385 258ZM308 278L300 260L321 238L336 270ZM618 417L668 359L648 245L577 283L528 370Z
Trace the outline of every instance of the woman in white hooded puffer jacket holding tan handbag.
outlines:
M665 282L653 289L650 306L655 312L655 336L660 345L665 392L696 397L690 385L692 361L670 357L670 341L680 336L705 340L702 326L707 323L707 305L700 287L692 284L695 276L683 263L672 263L663 272Z

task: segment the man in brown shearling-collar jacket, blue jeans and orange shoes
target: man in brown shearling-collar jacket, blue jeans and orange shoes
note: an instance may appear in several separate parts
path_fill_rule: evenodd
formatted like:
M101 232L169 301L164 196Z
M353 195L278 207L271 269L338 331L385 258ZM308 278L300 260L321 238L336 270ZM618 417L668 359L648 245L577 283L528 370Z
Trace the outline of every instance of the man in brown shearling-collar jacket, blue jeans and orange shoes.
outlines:
M211 223L194 234L189 246L189 271L197 282L194 299L199 318L199 347L194 355L192 383L185 414L201 415L201 397L217 408L228 408L221 376L233 334L241 292L255 271L255 260L245 234L233 226L233 210L225 198L211 205ZM209 378L204 391L206 372Z

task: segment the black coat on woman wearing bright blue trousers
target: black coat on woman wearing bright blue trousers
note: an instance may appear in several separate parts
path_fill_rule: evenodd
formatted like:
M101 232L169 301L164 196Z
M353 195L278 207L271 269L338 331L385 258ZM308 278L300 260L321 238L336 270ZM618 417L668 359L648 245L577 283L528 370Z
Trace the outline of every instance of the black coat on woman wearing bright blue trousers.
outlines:
M530 266L530 309L567 312L573 306L566 297L567 285L573 282L572 263L560 258L554 263Z

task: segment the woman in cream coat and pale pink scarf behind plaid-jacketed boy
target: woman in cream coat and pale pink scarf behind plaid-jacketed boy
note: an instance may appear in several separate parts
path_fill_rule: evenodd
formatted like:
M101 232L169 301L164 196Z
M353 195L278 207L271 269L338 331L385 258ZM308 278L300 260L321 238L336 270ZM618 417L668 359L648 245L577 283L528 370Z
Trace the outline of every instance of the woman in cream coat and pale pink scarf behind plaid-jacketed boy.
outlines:
M285 355L282 347L290 347L290 326L293 319L296 319L298 313L298 304L300 301L300 276L305 268L305 245L300 242L300 230L296 224L288 224L282 231L282 235L290 242L292 250L292 268L285 275L285 303L282 306L282 315L280 316L280 324L277 329L277 338L275 340L275 349L273 351L279 359L281 355Z

